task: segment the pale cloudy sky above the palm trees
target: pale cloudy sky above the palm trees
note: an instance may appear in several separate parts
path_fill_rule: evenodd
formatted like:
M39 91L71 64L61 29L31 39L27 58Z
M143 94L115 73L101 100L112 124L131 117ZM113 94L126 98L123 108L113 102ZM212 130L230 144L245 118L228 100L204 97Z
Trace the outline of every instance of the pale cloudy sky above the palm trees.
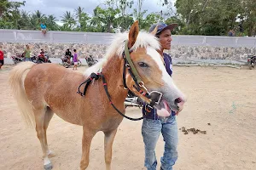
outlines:
M23 0L11 1L22 2ZM175 1L176 0L172 0L172 2ZM79 6L84 8L84 12L91 15L93 9L103 2L104 0L26 0L25 7L22 7L22 9L26 10L27 12L40 10L43 14L54 14L57 20L61 20L61 16L66 11L73 12L74 9L78 8ZM135 7L137 0L134 0L134 2ZM151 13L159 12L163 8L160 5L160 0L144 0L143 9L148 9L148 13Z

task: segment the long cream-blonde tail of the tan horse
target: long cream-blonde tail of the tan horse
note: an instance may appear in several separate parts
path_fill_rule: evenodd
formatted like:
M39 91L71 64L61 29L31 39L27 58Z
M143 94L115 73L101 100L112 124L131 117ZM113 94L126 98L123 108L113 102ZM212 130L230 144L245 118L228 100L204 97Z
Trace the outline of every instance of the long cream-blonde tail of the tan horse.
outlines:
M31 70L33 65L35 64L32 62L21 62L9 73L10 88L12 89L21 116L23 117L24 122L26 122L27 127L35 127L35 116L32 111L32 105L26 97L24 88L26 74Z

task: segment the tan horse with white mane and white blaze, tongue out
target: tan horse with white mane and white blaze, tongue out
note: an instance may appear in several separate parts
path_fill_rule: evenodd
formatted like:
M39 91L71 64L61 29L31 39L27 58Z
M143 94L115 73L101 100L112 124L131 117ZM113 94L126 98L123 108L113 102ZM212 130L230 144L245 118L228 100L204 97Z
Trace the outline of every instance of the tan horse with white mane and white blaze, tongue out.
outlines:
M126 45L130 48L128 55L134 65L133 69L137 70L135 79L129 67L126 67L128 64L125 64ZM86 169L89 164L91 139L99 131L105 134L105 163L106 169L110 170L113 139L123 120L123 116L119 115L113 105L120 112L125 112L127 88L148 103L152 103L153 99L145 94L152 91L161 93L159 102L154 103L154 107L159 110L182 110L183 94L167 74L163 59L158 53L159 48L158 40L152 34L139 32L138 23L135 22L129 33L119 34L113 40L105 60L90 67L84 75L54 64L34 65L32 62L25 62L15 66L10 73L9 82L22 116L28 125L36 128L45 169L52 168L49 161L52 152L48 148L46 130L54 113L67 122L83 126L81 170ZM87 87L86 94L79 95L79 85L88 79L91 72L98 71L104 77L93 80ZM142 81L139 86L137 75ZM108 95L105 91L107 84ZM84 84L81 85L83 87Z

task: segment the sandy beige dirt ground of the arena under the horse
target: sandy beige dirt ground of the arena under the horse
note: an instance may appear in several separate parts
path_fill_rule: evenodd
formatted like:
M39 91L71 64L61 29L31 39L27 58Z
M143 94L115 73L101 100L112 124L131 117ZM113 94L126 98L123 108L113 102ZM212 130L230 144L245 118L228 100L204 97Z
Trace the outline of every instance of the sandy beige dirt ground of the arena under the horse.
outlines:
M0 169L43 169L42 151L35 130L27 129L8 84L11 66L0 71ZM79 71L84 71L83 67ZM207 134L179 130L179 158L175 170L256 169L256 70L246 67L177 67L173 78L187 103L177 116L178 128L195 128ZM129 116L141 116L137 108ZM142 122L124 120L113 143L113 170L144 169ZM81 156L82 127L54 116L49 123L50 160L55 170L77 170ZM156 147L158 168L164 143ZM89 170L105 169L103 133L90 148Z

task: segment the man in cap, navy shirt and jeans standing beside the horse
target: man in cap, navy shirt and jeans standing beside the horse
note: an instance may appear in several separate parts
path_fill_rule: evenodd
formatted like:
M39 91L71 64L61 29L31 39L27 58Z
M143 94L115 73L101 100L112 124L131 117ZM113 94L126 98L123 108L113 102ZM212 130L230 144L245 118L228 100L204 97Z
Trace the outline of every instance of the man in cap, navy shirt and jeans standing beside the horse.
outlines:
M177 26L177 24L171 24L167 26L164 23L159 23L151 26L149 32L153 33L155 37L159 38L160 51L166 65L166 71L172 76L172 59L168 54L163 53L165 49L171 48L171 31ZM145 105L143 106L143 141L145 145L145 162L144 166L148 170L156 170L157 161L154 153L155 145L159 139L160 133L162 133L165 144L164 155L161 157L161 170L172 170L172 166L177 161L177 113L172 111L171 116L162 117L156 114L156 110L148 112L145 111Z

